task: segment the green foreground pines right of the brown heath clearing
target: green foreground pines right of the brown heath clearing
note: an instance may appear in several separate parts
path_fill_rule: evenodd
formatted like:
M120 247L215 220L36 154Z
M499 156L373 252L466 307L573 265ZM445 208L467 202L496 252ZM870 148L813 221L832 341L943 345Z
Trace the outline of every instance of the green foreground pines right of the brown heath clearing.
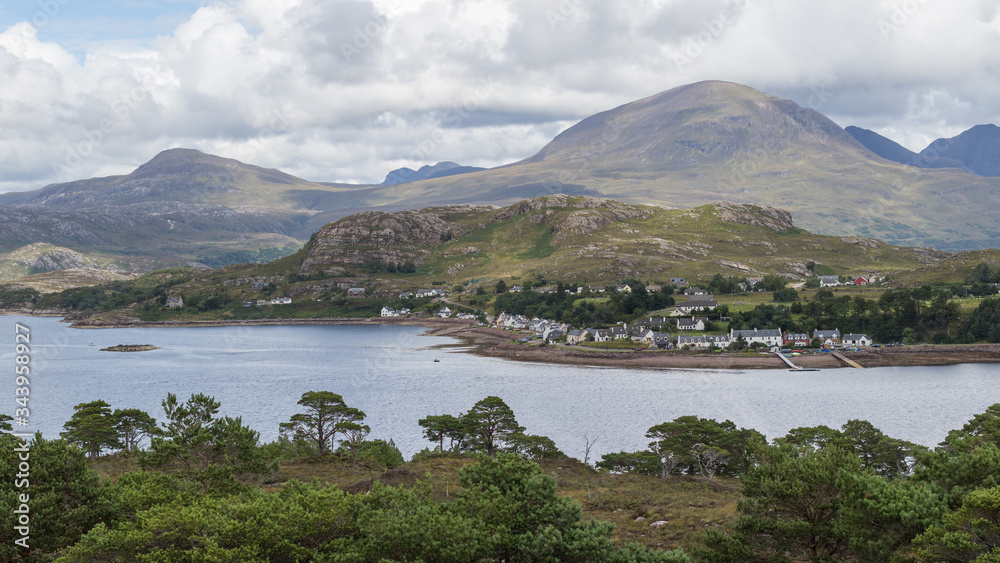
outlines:
M979 562L1000 555L1000 404L937 448L864 420L802 427L767 444L731 421L694 416L653 426L647 450L599 468L671 478L727 475L743 499L732 530L709 530L706 563Z

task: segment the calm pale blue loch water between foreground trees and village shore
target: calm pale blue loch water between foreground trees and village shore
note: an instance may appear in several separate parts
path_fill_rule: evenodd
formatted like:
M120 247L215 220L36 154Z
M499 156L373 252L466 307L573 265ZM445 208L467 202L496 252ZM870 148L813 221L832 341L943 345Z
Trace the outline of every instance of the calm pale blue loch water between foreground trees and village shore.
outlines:
M589 368L481 358L449 338L401 326L275 326L70 329L53 318L0 317L0 412L13 415L14 325L31 329L29 431L54 437L73 406L103 399L158 420L167 393L213 395L221 414L242 416L263 440L298 412L305 391L333 391L368 414L373 438L392 438L403 455L430 445L417 420L459 414L502 397L531 434L582 457L592 450L643 449L646 430L682 415L730 419L768 439L797 426L872 422L890 436L928 446L1000 402L1000 365L684 371ZM89 346L93 341L96 346ZM153 344L141 353L101 352ZM435 359L440 360L434 362ZM2 367L7 366L7 367Z

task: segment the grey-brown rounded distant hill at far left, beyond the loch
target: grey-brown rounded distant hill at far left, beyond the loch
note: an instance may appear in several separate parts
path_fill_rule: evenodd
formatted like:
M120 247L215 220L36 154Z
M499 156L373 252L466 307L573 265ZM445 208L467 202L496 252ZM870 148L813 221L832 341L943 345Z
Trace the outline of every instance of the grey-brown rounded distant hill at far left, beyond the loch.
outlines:
M270 260L309 237L314 212L298 207L299 194L345 189L172 149L125 176L0 194L0 262L35 243L130 271ZM0 268L0 280L24 273Z

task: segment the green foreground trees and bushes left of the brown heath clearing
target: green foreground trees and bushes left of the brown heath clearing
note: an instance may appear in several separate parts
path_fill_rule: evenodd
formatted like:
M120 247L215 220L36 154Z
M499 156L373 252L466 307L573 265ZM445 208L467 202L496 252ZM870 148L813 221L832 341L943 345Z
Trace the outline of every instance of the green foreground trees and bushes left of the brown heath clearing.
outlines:
M264 492L259 485L275 478L276 461L293 444L302 448L295 456L356 463L359 450L378 442L366 440L365 413L340 395L310 391L298 404L301 412L280 425L279 443L264 445L239 417L218 416L219 402L204 394L187 401L168 394L158 426L103 401L77 405L61 439L35 435L31 548L13 544L16 515L7 510L0 558L690 562L680 551L618 546L613 525L584 521L581 505L556 495L556 480L516 453L524 428L496 397L455 417L465 432L461 451L483 453L460 471L454 497L435 498L428 481L410 488L374 482L351 493L293 480ZM10 421L0 416L0 470L12 475L21 442L7 433ZM147 450L132 447L140 435L149 438ZM141 470L101 480L85 459L112 448L136 455ZM4 506L16 507L21 493L13 480L0 483Z

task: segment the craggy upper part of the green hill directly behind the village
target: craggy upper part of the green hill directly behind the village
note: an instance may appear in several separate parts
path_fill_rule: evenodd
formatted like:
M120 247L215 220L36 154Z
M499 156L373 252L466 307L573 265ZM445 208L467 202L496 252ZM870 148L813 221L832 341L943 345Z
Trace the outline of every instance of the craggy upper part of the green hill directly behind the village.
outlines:
M591 282L714 273L795 279L810 275L808 262L842 274L886 274L950 255L809 233L787 211L767 206L717 202L676 210L555 195L503 208L361 213L325 226L298 256L306 275L392 278L403 275L396 267L413 262L414 278L457 283L534 275Z

